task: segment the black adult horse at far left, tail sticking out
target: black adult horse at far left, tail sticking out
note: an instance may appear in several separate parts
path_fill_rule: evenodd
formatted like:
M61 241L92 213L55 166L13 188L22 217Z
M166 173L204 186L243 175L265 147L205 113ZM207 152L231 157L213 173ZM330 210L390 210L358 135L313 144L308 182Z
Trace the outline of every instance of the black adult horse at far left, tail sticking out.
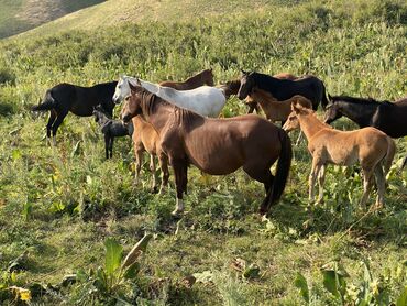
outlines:
M82 87L62 83L46 90L45 97L40 105L32 107L33 111L50 110L50 119L46 124L46 136L50 140L53 134L53 144L56 144L56 132L68 112L80 117L90 117L94 107L101 105L109 116L113 114L114 103L111 97L114 94L117 81L97 84L91 87Z

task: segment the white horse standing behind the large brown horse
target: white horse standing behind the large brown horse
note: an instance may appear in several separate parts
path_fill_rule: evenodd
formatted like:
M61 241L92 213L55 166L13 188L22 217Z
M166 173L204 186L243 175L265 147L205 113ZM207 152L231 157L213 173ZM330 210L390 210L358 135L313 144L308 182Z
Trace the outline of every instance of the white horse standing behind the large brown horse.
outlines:
M125 97L130 96L129 83L133 86L139 85L177 107L195 111L205 117L217 118L227 102L224 91L220 88L201 86L191 90L176 90L136 77L122 76L116 86L114 103L120 103Z

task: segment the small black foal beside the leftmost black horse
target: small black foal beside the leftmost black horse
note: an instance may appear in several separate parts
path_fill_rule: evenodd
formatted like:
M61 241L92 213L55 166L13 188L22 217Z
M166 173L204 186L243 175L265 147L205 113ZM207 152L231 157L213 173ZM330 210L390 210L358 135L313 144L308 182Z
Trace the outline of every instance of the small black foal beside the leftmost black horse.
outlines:
M106 159L113 157L114 138L127 136L133 133L133 124L124 125L123 122L110 119L105 109L97 106L94 110L95 121L99 123L105 135Z

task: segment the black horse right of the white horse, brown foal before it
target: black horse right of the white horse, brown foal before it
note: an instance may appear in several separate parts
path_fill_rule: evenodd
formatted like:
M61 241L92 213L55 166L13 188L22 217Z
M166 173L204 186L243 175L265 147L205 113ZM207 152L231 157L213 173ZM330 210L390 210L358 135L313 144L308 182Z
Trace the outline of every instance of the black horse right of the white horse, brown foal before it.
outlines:
M323 81L312 75L290 80L279 79L255 72L246 73L242 70L238 98L243 100L254 88L268 91L278 101L287 100L295 95L304 96L312 102L314 110L317 110L320 102L323 109L328 105Z

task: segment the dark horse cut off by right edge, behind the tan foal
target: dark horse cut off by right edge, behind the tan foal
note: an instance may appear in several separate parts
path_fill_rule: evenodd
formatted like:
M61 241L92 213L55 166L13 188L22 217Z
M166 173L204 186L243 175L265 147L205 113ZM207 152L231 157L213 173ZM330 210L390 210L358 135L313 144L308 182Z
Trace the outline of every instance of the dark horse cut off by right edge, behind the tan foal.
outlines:
M372 98L328 97L330 102L324 116L328 124L345 116L360 128L374 127L391 138L407 135L407 98L392 103Z

